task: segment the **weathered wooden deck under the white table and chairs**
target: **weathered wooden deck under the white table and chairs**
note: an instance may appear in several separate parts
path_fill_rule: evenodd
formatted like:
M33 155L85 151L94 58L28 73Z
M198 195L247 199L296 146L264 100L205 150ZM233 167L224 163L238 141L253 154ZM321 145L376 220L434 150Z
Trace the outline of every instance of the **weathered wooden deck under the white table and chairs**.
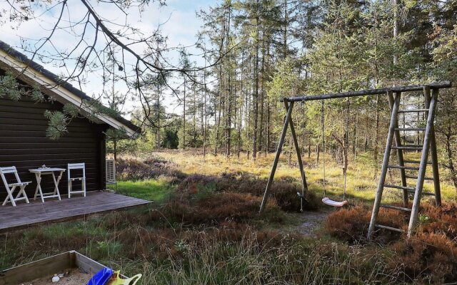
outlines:
M19 202L16 207L11 204L0 205L0 232L27 227L29 225L56 222L65 219L76 219L87 214L94 214L127 207L149 204L151 201L114 194L112 192L88 192L86 197L74 196L62 200L47 199L44 203L39 199L30 204Z

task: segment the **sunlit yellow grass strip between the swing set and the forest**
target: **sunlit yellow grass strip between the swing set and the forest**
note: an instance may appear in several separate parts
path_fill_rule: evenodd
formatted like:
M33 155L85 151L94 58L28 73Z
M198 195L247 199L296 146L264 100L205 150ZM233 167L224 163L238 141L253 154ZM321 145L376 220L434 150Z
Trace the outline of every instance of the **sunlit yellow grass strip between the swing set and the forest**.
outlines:
M420 160L420 154L408 153L405 160ZM273 163L274 154L261 154L256 161L247 160L245 154L241 158L233 156L226 158L224 155L203 155L199 152L192 151L165 151L157 152L156 156L162 160L168 160L176 164L176 168L187 175L221 175L222 173L235 173L238 175L248 174L260 179L266 179L270 175L271 164ZM394 158L393 158L394 159ZM323 154L320 162L316 162L316 155L311 153L303 157L305 163L306 180L311 192L315 192L318 197L323 197ZM382 157L380 155L379 162ZM341 165L336 162L331 155L326 155L326 192L331 199L341 200L343 197L344 178L341 171ZM393 162L394 163L394 162ZM357 157L349 157L346 195L352 204L364 202L372 204L378 184L378 167L375 177L373 168L373 157L371 152L361 152ZM440 169L441 174L446 170ZM415 172L411 172L413 175ZM428 167L426 176L431 177L431 167ZM441 196L444 201L457 202L457 191L449 180L443 180L446 175L441 175ZM281 155L278 167L276 169L275 181L287 179L296 183L300 182L300 171L293 157L291 165L288 165L287 155ZM388 172L387 181L391 184L401 185L399 170ZM408 180L409 186L415 186L416 180ZM433 182L426 180L424 190L433 191ZM401 201L401 192L396 190L386 191L384 195L385 202ZM427 198L428 199L428 198Z

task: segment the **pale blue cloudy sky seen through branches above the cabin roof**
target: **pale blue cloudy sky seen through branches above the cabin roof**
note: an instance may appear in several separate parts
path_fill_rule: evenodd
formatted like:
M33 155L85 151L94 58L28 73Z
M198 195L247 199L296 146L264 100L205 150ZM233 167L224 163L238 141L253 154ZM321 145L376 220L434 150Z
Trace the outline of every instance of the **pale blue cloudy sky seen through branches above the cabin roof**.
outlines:
M196 42L196 33L202 25L201 20L196 16L196 11L201 9L207 10L209 6L214 6L217 3L216 1L211 0L166 0L166 6L160 6L155 1L151 1L151 4L141 13L139 12L139 9L132 8L129 10L129 15L125 16L112 4L103 4L97 1L89 2L94 6L96 11L106 19L116 21L116 23L119 23L120 25L127 21L146 35L150 34L161 25L161 33L164 36L167 36L167 46L169 47L192 46ZM54 3L58 2L54 1ZM68 11L65 11L64 17L69 17L67 19L72 19L73 21L84 16L86 11L79 0L69 0L68 7ZM36 10L39 11L40 8ZM10 7L6 4L6 1L0 1L0 15L3 14L1 15L3 23L0 23L0 38L1 41L8 43L10 46L22 52L24 52L24 50L21 46L24 42L26 44L36 45L40 38L49 35L49 28L54 25L56 17L60 13L60 9L51 9L51 11L42 14L36 20L33 19L18 25L16 21L9 21L9 19L5 17L9 11ZM53 38L53 44L60 49L74 46L78 40L71 34L64 32L57 32ZM136 52L141 53L144 46L134 46L133 49ZM167 58L174 63L178 61L177 53L171 53ZM61 66L42 62L39 58L36 58L35 60L41 63L46 69L49 69L56 74L64 73ZM193 60L198 64L204 64L203 59L201 58L194 58ZM94 73L93 76L88 76L86 78L86 82L81 86L81 89L88 95L99 98L100 93L102 92L100 80L101 73ZM116 86L116 89L120 92L126 90L125 86L122 86L122 84L121 86ZM170 112L181 113L179 110L180 107L176 105L176 100L174 100L171 95L166 95L166 100L168 100L167 105ZM126 103L124 108L126 117L130 118L129 113L131 113L133 108L135 108L134 102L129 101Z

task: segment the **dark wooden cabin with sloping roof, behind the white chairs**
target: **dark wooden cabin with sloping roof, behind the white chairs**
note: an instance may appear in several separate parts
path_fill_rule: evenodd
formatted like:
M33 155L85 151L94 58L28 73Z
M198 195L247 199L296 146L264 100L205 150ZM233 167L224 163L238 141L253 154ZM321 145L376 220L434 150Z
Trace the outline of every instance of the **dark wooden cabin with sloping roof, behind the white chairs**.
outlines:
M33 182L26 187L29 198L36 188L35 177L29 170L41 165L66 168L68 163L85 162L87 191L104 190L106 130L121 129L126 137L133 137L139 128L124 118L98 114L93 120L71 120L68 132L58 140L51 140L46 136L49 122L44 117L45 110L62 110L67 103L81 106L83 100L91 98L0 41L0 75L7 72L16 75L21 84L39 86L53 100L37 103L29 96L11 100L0 94L0 167L16 166L22 181ZM51 177L44 177L41 186L49 190L54 182ZM61 194L67 192L66 173L59 190ZM0 183L0 200L3 202L5 197L4 185Z

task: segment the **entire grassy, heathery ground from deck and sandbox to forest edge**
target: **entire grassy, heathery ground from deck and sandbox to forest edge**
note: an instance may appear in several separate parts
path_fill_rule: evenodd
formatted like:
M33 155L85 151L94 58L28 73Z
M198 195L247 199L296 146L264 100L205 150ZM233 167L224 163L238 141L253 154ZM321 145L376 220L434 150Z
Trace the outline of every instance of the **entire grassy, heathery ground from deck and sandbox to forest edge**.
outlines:
M444 284L457 281L456 190L446 181L442 208L423 202L411 239L380 230L366 240L376 189L368 154L351 157L350 206L321 203L322 157L306 160L305 212L299 171L281 158L266 212L258 214L272 155L256 162L167 150L119 159L117 192L154 203L73 222L0 235L0 269L75 249L141 284ZM343 176L326 157L326 190L341 199ZM388 179L395 180L394 174ZM428 190L433 185L427 184ZM401 201L399 192L386 195ZM382 222L405 227L394 210Z

